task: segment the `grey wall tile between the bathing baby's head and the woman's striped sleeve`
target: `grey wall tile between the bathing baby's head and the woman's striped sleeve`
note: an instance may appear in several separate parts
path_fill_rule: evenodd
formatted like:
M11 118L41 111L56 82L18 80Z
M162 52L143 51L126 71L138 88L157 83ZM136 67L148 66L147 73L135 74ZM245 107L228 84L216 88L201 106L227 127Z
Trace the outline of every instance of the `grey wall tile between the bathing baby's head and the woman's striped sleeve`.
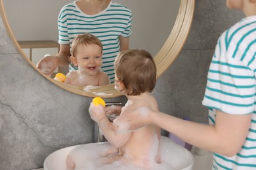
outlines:
M207 123L208 110L202 100L213 50L182 50L174 63L158 78L152 93L161 112Z

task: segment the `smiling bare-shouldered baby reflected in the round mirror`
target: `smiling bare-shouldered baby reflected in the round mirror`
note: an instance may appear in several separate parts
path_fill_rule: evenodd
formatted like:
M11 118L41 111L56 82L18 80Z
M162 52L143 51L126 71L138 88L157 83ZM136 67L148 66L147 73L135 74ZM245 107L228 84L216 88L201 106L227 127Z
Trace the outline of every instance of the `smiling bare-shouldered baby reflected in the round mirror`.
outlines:
M100 71L102 66L102 43L94 35L83 34L74 39L70 61L78 67L78 70L66 75L66 84L102 86L110 83L108 75Z

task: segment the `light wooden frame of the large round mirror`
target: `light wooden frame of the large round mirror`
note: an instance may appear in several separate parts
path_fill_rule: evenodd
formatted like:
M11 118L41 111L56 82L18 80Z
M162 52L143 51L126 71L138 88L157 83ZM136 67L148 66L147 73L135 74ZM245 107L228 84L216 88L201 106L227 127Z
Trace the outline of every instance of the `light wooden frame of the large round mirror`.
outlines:
M179 55L179 52L181 52L182 46L184 45L184 42L186 41L186 38L188 37L188 33L190 31L190 27L192 25L192 20L194 16L194 9L196 5L196 0L181 0L181 5L179 8L179 12L177 14L177 18L175 21L175 24L173 25L173 29L171 30L171 33L165 43L163 44L162 48L154 56L154 59L156 61L156 67L157 67L157 74L158 77L163 74L167 68L173 63L175 58ZM24 59L30 65L36 69L41 75L43 75L26 57L26 54L23 52L22 48L16 41L16 38L14 37L11 27L9 25L9 22L7 21L7 16L5 14L5 9L3 5L3 0L0 0L0 14L1 18L3 20L3 24L5 25L5 29L7 30L7 33L9 34L9 37L11 38L12 43L20 52L20 54L23 56ZM49 76L43 75L45 78L56 84L57 86L60 86L61 88L64 88L65 90L68 90L73 93L77 93L79 95L84 95L87 97L119 97L122 94L117 92L117 90L114 89L114 84L108 84L105 86L100 86L99 88L91 89L89 92L85 92L83 88L72 86L69 84L64 84L62 82L58 82L56 80L53 80L53 78L50 78Z

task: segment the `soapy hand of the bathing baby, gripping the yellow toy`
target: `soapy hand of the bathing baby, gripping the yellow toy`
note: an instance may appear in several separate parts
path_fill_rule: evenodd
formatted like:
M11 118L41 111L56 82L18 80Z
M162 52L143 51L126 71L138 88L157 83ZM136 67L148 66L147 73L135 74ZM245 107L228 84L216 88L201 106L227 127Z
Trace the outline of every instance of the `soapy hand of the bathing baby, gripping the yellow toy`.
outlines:
M89 107L89 113L91 119L97 123L100 122L100 120L106 118L106 113L102 105L95 106L95 104L91 103Z

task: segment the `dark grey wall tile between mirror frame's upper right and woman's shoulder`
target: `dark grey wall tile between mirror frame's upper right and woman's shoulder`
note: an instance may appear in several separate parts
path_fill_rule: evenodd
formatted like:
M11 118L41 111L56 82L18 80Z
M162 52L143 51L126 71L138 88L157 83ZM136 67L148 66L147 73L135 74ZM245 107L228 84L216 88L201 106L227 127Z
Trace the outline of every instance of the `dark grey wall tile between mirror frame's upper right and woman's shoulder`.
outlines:
M226 1L196 1L194 20L183 49L213 49L228 27L244 18L238 10L226 7Z

